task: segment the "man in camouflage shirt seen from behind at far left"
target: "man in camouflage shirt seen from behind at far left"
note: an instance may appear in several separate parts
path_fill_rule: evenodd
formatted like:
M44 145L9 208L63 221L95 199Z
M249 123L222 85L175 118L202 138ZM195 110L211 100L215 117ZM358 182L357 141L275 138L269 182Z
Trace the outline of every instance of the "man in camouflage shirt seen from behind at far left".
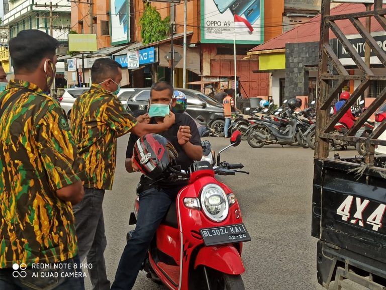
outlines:
M9 42L15 80L0 94L0 289L84 289L74 275L71 209L84 194L83 161L64 111L43 93L55 77L58 46L39 30Z

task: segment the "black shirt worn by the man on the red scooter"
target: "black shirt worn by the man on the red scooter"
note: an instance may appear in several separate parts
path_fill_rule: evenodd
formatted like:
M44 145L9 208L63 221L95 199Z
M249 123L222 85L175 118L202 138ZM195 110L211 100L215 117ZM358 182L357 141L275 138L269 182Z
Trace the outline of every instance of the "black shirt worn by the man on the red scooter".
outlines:
M156 124L154 119L151 120L150 124ZM167 140L170 141L170 143L174 146L175 150L178 153L178 158L176 159L177 165L181 166L181 169L187 170L189 166L193 163L194 160L190 159L185 151L183 150L182 146L178 144L177 139L177 132L179 129L179 126L189 126L190 127L190 143L193 145L199 145L201 146L201 139L199 130L197 129L197 125L195 123L195 120L192 119L190 116L185 114L175 114L175 123L167 130L162 133L158 133L159 135L165 137ZM135 142L139 139L138 136L134 134L130 134L129 142L127 144L126 149L126 158L131 158L133 156L133 149ZM147 185L143 188L149 188L149 184L153 183L155 180L152 180L150 178L147 178L146 176L141 176L141 184ZM186 182L165 182L165 181L159 181L155 184L162 187L162 188L168 188L168 187L182 187L186 184ZM140 190L142 191L142 190Z

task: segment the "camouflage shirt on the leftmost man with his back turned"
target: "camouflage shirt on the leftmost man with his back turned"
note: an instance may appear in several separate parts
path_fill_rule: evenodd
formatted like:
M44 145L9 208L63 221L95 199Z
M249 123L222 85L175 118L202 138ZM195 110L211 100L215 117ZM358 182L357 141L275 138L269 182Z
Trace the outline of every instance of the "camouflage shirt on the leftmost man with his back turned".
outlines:
M35 84L10 81L0 107L0 268L54 263L77 254L74 217L56 190L82 178L67 119Z

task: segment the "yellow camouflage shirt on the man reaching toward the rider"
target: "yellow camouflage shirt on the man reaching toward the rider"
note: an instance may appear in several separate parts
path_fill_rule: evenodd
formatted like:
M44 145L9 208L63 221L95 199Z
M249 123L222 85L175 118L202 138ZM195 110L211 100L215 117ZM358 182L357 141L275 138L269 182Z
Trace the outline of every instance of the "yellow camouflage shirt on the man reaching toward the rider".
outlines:
M85 160L84 187L111 190L117 155L117 137L129 132L136 119L118 97L98 84L80 95L71 110L71 131Z

